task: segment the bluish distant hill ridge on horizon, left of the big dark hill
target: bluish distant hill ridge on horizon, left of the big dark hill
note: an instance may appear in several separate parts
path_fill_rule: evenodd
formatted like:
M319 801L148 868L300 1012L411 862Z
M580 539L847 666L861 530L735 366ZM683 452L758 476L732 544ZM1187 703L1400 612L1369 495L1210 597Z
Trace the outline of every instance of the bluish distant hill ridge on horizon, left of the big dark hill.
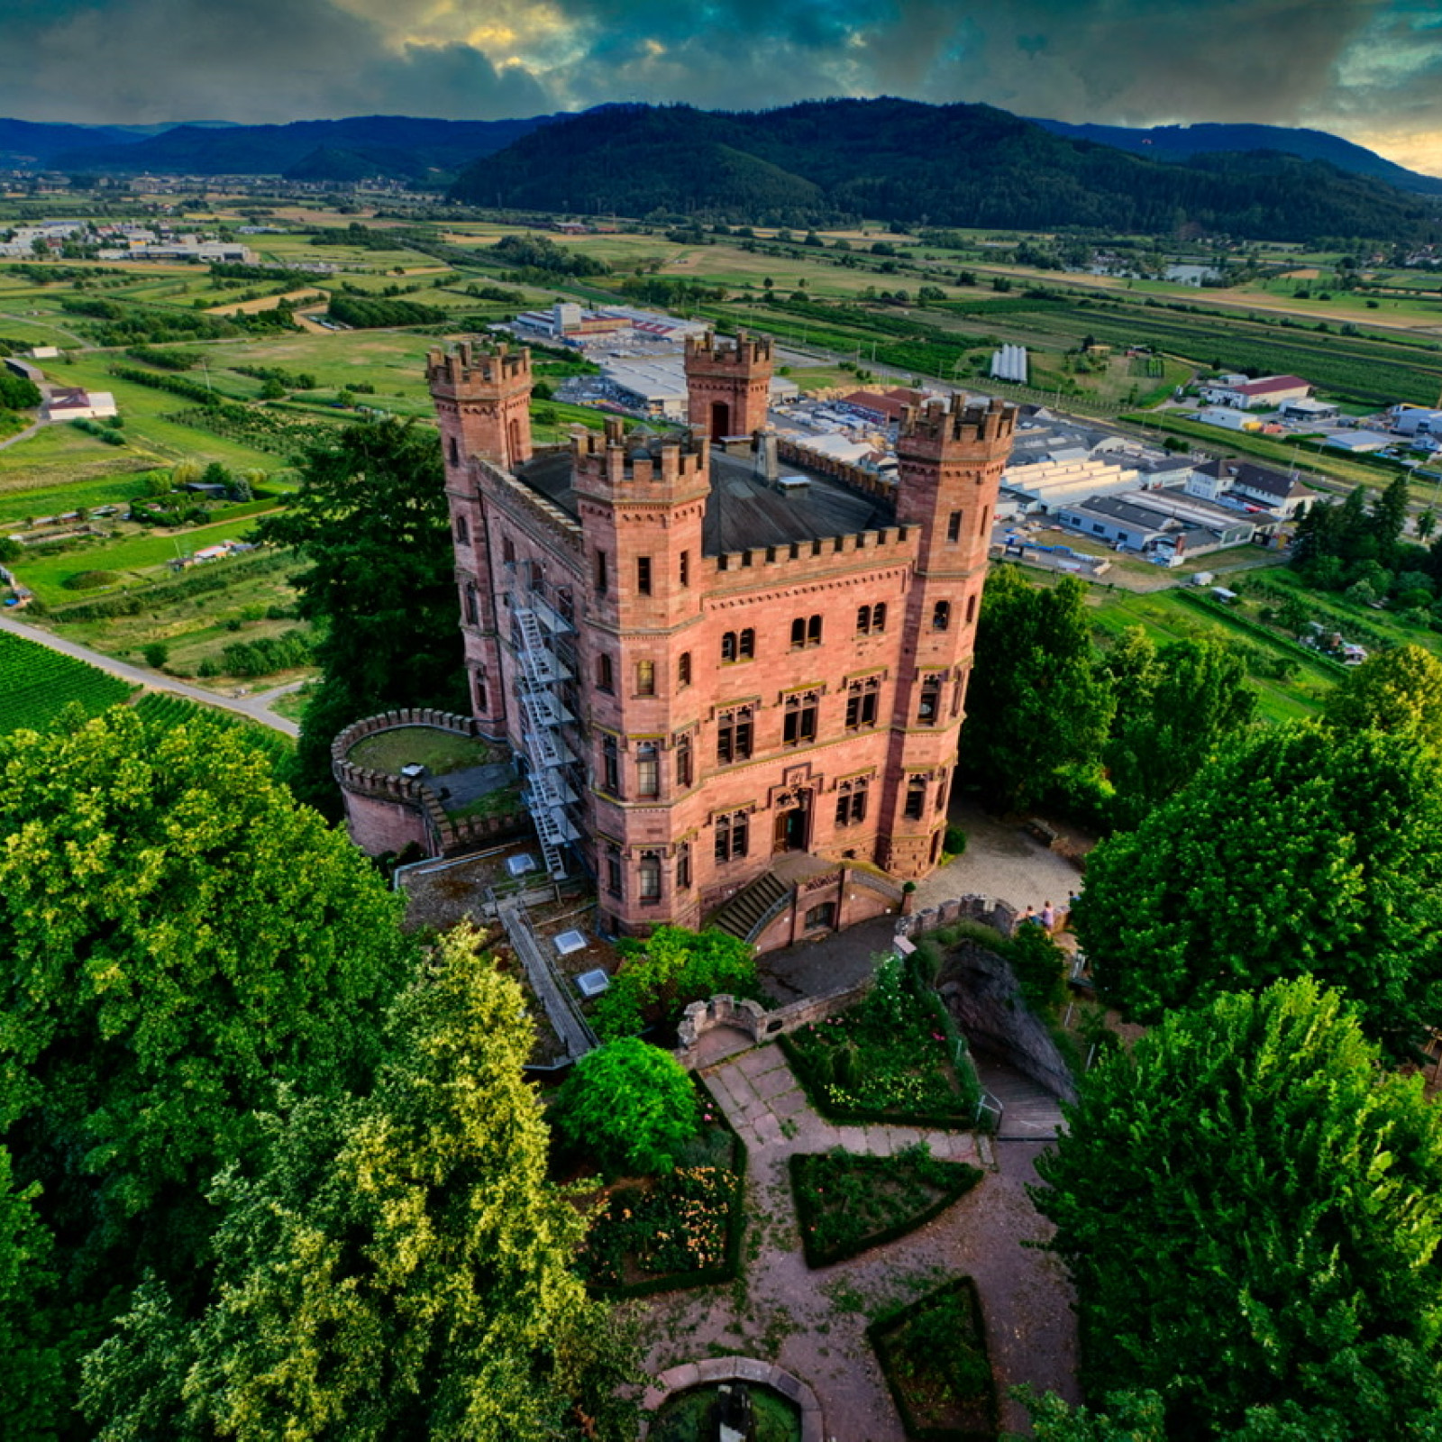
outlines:
M407 115L358 115L350 120L298 120L288 125L176 125L162 136L128 144L78 146L53 159L62 170L151 174L288 174L297 166L353 172L353 159L371 157L362 174L418 179L428 172L454 174L477 156L502 150L544 125L529 120L412 120ZM327 159L329 157L329 159ZM306 179L355 179L307 174Z

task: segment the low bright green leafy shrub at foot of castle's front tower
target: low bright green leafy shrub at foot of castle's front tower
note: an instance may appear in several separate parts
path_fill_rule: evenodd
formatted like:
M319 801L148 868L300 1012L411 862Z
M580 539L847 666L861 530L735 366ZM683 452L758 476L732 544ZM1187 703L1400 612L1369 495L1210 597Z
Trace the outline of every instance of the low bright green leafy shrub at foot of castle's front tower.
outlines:
M678 1017L684 1007L721 994L756 989L756 955L735 936L708 927L658 926L645 940L624 939L622 969L596 1004L603 1037L629 1037L647 1021Z

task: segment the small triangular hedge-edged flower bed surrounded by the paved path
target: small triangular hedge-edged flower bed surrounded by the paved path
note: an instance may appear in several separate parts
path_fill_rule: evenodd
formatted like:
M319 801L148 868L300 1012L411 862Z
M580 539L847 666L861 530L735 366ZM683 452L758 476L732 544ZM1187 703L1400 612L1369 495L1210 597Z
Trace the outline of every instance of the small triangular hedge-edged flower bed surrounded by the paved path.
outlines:
M937 1161L923 1144L891 1156L835 1148L790 1159L808 1266L844 1262L924 1226L982 1180L966 1162Z

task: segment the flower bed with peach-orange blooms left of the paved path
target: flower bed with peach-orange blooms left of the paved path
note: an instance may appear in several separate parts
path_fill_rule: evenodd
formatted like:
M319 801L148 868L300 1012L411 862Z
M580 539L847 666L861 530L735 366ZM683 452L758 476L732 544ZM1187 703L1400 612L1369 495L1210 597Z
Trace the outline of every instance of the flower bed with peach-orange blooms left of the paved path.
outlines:
M730 1282L741 1263L746 1146L704 1083L702 1131L681 1167L601 1194L580 1256L581 1276L606 1296L646 1296Z

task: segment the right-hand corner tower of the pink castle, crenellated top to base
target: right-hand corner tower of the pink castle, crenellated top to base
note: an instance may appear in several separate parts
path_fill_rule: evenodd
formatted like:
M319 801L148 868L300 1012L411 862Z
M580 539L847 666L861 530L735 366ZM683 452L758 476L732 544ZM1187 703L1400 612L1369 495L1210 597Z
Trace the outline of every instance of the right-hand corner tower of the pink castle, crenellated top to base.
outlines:
M1017 408L932 401L907 407L897 437L897 519L917 526L903 662L891 722L884 865L920 877L946 829L956 743L986 581L1001 473Z

